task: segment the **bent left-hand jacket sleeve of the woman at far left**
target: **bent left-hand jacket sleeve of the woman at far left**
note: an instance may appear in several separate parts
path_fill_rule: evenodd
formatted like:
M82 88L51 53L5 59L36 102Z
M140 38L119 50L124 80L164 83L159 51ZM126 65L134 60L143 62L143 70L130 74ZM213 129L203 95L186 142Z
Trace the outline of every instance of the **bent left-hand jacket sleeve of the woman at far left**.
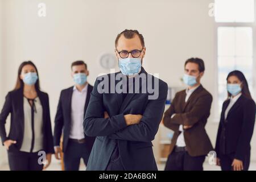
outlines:
M0 137L2 143L8 139L6 136L5 123L8 115L11 113L11 110L11 94L9 92L5 97L5 104L3 105L3 109L0 114Z

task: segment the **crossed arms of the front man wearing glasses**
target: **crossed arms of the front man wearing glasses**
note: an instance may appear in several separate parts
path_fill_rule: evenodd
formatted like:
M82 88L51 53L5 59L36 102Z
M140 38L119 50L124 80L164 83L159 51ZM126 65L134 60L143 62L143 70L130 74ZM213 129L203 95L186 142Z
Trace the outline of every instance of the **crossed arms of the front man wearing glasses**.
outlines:
M148 101L143 115L113 115L104 118L102 94L97 92L98 81L94 84L84 119L85 134L92 137L108 136L112 139L148 142L158 131L167 96L167 85L159 89L159 98ZM160 85L159 85L160 87ZM138 121L139 120L139 121Z

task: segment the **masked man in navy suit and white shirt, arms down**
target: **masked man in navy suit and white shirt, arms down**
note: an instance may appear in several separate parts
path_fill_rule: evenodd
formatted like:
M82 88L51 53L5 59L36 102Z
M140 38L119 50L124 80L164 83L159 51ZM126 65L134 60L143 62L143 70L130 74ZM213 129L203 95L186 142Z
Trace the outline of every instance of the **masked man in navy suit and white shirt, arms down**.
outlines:
M87 82L89 72L84 61L75 61L71 69L75 86L61 91L55 117L54 143L55 157L60 159L63 133L64 168L78 171L81 158L87 165L95 140L95 137L86 136L82 127L93 86Z

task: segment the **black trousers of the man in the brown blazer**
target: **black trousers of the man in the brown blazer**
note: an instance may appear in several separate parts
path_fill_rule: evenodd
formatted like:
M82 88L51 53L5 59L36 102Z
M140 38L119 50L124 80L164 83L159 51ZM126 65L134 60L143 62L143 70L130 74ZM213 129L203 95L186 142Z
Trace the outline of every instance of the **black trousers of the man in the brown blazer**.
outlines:
M190 156L187 151L176 152L168 156L164 171L203 171L205 156Z

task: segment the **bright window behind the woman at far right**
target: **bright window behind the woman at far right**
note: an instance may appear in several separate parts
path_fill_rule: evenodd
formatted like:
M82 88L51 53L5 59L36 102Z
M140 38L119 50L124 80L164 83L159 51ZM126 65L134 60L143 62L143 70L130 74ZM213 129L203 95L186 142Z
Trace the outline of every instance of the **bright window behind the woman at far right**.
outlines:
M218 108L227 98L226 77L239 70L254 95L254 0L216 0Z

